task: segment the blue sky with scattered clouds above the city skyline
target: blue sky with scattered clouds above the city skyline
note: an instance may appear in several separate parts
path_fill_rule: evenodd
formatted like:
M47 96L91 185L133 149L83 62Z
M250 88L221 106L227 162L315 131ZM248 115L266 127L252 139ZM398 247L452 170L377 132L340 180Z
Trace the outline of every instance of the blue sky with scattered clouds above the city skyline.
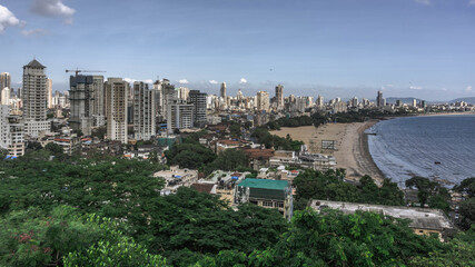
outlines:
M208 93L475 97L475 0L0 0L0 72L66 69ZM93 75L93 73L92 73Z

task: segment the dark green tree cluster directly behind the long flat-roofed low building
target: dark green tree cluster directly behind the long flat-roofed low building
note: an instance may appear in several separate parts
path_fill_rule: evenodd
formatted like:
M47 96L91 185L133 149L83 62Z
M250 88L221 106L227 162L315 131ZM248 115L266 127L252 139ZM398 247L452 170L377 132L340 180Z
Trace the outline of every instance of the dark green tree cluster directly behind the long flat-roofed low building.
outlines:
M380 205L404 205L404 194L388 179L378 187L369 176L364 176L359 185L343 180L344 170L326 172L306 170L294 179L297 187L296 207L304 208L309 199L327 199L349 202Z

